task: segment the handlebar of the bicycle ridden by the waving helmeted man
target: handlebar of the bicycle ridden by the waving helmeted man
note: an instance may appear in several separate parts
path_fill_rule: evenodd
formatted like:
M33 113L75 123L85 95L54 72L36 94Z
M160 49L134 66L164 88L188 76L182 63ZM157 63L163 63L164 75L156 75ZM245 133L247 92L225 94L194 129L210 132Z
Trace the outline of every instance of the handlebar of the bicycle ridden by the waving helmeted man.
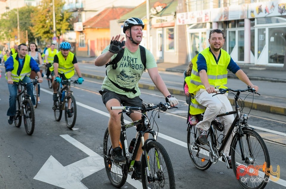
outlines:
M142 107L132 107L132 106L111 106L111 110L125 110L126 112L132 111L132 110L143 110L143 111L151 111L156 108L159 108L159 110L167 111L167 109L171 109L170 103L158 103L157 105L154 105L153 103L142 103Z

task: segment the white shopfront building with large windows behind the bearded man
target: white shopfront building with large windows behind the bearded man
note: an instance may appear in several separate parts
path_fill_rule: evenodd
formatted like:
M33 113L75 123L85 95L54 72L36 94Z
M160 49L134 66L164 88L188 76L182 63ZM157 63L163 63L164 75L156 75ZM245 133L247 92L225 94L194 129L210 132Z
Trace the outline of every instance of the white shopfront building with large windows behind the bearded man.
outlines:
M179 1L176 23L186 31L188 60L209 46L209 31L218 28L225 33L223 48L235 62L283 67L286 1L228 3Z

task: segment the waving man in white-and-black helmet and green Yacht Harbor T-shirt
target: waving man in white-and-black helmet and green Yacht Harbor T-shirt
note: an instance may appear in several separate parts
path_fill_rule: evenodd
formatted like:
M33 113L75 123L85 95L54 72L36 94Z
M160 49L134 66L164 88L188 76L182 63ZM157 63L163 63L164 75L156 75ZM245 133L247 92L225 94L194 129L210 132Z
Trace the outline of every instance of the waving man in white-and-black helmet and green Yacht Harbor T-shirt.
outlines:
M171 106L178 104L178 100L168 91L164 81L158 73L157 64L150 51L140 46L143 38L144 23L139 18L129 18L123 23L123 32L126 36L119 40L120 34L112 37L108 45L100 56L95 59L96 66L106 65L106 76L102 83L100 94L105 104L110 119L108 122L109 134L113 151L111 159L114 162L125 162L122 155L122 149L119 147L120 139L120 110L111 110L111 106L142 106L142 99L138 81L141 78L145 68L156 85L157 89L164 95L166 101ZM119 58L118 58L119 57ZM141 119L141 114L130 114L130 118L135 121ZM137 128L140 130L140 128ZM145 139L148 135L145 134ZM138 153L135 158L134 179L141 179L141 154Z

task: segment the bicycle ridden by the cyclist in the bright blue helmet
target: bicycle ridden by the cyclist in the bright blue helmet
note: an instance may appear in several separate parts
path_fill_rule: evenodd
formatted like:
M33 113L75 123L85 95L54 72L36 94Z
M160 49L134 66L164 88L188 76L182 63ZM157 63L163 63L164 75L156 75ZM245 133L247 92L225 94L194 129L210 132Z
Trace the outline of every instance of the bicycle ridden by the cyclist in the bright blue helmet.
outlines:
M66 126L72 128L77 119L77 104L71 90L71 82L78 84L77 80L61 80L60 90L58 93L58 100L54 101L53 110L56 121L62 118L63 110L65 111ZM65 85L63 87L63 85Z

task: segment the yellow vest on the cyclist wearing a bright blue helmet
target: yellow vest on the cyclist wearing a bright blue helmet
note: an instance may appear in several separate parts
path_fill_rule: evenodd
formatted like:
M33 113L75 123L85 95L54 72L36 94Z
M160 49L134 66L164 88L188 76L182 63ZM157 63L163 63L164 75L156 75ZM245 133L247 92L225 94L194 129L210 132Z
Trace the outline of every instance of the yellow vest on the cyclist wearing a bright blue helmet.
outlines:
M74 59L74 53L69 52L66 59L63 57L62 51L57 53L59 59L58 73L65 74L66 78L71 78L74 75L74 64L72 63ZM54 70L54 66L50 67L50 71Z

